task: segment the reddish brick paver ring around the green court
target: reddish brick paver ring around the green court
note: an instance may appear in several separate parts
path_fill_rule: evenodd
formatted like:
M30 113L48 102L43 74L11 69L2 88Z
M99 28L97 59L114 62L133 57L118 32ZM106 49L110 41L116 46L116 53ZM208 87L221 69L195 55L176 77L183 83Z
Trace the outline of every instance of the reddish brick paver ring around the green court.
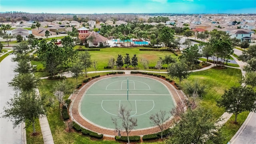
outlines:
M69 113L71 116L71 119L73 121L75 121L77 124L79 124L82 128L91 130L93 132L97 132L99 134L104 134L104 136L108 136L108 137L114 137L116 135L118 135L118 132L116 132L115 130L110 130L110 129L105 129L105 128L100 128L98 126L95 126L93 124L91 124L90 122L86 121L84 118L82 118L82 116L80 116L79 114L79 103L80 100L82 99L82 96L84 95L84 92L86 92L86 90L95 82L97 82L98 80L102 80L104 78L108 78L108 77L115 77L115 76L122 76L124 74L115 74L115 75L110 75L110 76L102 76L100 78L95 78L93 80L90 80L90 82L86 83L77 94L73 94L70 99L72 100L72 103L70 105L69 108ZM148 76L148 75L144 75L144 74L129 74L129 76L142 76L142 77L146 77L146 78L152 78L154 80L158 80L160 81L162 84L166 85L167 88L169 89L169 91L172 93L172 96L175 100L175 102L179 102L182 101L184 99L184 95L182 94L182 92L180 92L180 90L176 90L174 88L174 86L172 86L172 84L170 84L168 81L162 79L162 78L158 78L155 76ZM169 128L173 125L173 120L170 118L168 120L168 122L166 122L166 128ZM160 132L158 127L151 127L151 128L146 128L143 130L132 130L132 132L130 132L130 136L143 136L146 134L153 134L153 133L157 133ZM126 135L125 132L121 132L121 135Z

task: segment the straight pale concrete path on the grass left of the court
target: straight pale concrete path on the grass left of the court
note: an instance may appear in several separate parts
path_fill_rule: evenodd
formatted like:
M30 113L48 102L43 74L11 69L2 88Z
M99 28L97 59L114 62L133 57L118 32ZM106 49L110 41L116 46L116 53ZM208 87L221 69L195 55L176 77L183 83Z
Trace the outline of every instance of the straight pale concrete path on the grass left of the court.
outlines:
M36 89L36 94L40 96L38 88ZM52 132L49 126L48 119L46 115L41 115L39 118L39 123L41 127L42 137L44 140L44 144L54 144Z

